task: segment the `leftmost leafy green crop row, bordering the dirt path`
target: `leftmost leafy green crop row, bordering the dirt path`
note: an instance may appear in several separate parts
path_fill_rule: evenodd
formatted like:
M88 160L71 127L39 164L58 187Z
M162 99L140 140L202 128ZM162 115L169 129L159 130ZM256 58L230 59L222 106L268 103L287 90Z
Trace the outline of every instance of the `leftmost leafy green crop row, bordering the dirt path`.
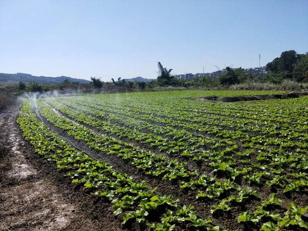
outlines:
M123 217L123 225L136 220L153 230L172 230L175 226L220 230L218 226L211 225L210 220L198 218L192 211L193 206L181 207L178 200L171 196L156 194L145 182L138 183L61 140L37 121L27 100L23 101L17 123L36 153L65 170L72 183L82 184L91 194L109 200L113 204L114 215ZM161 214L160 219L153 221L151 217L157 213Z

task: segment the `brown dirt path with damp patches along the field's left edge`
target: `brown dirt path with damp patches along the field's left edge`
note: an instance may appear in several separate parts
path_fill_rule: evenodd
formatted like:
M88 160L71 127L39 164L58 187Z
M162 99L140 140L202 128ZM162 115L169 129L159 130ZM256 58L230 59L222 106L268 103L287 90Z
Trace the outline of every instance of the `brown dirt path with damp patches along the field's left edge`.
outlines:
M86 195L33 153L17 115L0 117L0 230L123 230L110 202Z

